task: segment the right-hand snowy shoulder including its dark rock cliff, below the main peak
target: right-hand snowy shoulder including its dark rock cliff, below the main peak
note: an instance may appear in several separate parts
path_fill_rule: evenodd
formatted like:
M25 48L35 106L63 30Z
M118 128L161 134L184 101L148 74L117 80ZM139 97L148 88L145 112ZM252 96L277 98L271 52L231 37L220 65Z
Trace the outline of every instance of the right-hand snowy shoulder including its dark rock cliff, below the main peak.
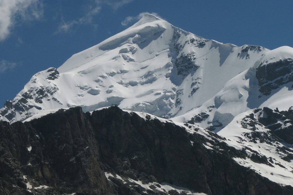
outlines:
M293 105L293 48L266 52L249 69L229 80L224 88L200 107L173 118L219 131L232 119L253 108L288 110ZM196 117L197 116L197 117Z

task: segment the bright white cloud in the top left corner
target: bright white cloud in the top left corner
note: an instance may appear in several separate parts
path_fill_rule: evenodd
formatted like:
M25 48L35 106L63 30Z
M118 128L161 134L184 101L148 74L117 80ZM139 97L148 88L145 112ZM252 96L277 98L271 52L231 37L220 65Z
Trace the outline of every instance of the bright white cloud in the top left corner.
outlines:
M9 35L19 20L40 19L42 15L40 0L0 0L0 41Z

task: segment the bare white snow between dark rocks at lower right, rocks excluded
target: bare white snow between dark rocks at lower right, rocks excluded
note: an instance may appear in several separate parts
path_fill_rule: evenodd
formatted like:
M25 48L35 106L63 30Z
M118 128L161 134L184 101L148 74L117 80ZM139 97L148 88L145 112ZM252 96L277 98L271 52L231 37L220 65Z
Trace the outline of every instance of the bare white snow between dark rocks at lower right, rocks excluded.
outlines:
M252 151L256 151L260 155L264 155L267 158L271 157L273 161L271 164L274 167L262 163L255 163L249 158L234 158L237 163L253 169L258 174L262 175L263 177L267 177L273 182L284 186L293 186L293 162L287 162L283 160L281 157L286 156L286 154L277 149L277 147L282 148L282 146L285 146L292 148L292 146L280 141L268 144L266 142L260 142L257 140L257 143L255 143L249 140L247 136L244 136L245 133L251 133L253 130L243 128L241 121L251 113L253 113L253 110L248 110L237 115L231 123L229 123L224 129L220 130L217 134L225 137L227 139L225 142L236 149L241 150L242 148L249 148L249 150L246 149L246 153L248 155L251 155ZM257 117L257 114L255 114L255 117ZM269 131L269 129L265 129L264 126L260 126L259 124L256 126L258 128L255 130L256 132L266 133ZM274 163L279 163L285 168Z

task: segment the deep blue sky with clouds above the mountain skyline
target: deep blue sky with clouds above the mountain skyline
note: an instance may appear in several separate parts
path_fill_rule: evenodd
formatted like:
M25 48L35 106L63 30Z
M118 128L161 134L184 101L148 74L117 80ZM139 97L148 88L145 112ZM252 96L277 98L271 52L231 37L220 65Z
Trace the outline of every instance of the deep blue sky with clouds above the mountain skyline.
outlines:
M293 1L0 0L0 107L38 71L115 35L145 12L219 42L293 47Z

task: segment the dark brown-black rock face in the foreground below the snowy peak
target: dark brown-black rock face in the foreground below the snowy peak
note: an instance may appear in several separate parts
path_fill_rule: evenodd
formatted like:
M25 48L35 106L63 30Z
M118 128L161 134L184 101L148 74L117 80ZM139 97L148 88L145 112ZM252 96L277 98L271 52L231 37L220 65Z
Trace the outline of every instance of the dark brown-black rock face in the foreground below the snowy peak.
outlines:
M233 160L245 151L185 126L117 106L0 122L0 194L293 194Z

